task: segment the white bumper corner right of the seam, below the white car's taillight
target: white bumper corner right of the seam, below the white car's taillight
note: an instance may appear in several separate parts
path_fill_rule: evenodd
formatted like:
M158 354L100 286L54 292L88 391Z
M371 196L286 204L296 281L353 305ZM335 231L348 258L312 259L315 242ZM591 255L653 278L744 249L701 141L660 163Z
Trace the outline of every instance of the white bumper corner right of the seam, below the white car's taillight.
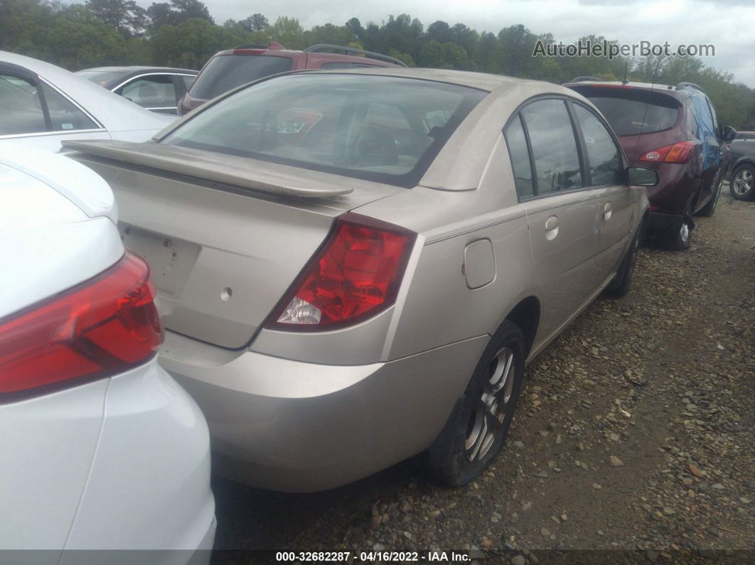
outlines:
M193 561L194 552L210 549L215 503L209 447L199 407L156 360L112 378L60 563L77 562L76 551L69 553L77 549L179 550L154 560L160 563Z

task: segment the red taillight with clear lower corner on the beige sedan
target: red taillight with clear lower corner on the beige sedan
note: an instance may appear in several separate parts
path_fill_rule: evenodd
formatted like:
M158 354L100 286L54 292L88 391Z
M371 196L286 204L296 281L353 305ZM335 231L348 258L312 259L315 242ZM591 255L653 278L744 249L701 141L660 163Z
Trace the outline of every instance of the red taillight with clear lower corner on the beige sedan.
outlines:
M331 330L392 305L417 237L399 226L347 213L273 311L267 327Z

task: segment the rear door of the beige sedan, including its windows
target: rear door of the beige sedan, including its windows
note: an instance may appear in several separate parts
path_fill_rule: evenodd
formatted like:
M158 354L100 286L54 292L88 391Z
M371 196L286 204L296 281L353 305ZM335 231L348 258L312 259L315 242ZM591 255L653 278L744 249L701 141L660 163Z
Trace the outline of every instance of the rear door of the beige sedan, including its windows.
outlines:
M527 214L533 275L544 296L541 331L547 339L599 286L593 262L598 192L585 186L581 146L565 99L529 103L504 135Z

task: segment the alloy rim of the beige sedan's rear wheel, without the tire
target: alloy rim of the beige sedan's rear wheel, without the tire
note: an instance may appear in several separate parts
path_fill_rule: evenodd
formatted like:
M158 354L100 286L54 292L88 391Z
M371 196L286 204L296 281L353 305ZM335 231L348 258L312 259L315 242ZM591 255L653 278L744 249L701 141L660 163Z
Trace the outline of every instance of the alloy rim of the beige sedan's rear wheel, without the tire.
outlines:
M504 421L513 410L516 359L512 349L504 347L495 354L488 367L489 379L482 386L480 398L470 414L464 453L470 462L485 457L504 431Z

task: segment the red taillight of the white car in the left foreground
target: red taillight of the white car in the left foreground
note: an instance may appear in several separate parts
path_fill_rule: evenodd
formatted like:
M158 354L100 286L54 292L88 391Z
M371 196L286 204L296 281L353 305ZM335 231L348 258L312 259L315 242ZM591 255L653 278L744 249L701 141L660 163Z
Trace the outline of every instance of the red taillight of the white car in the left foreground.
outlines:
M162 326L149 267L123 258L0 320L0 401L120 373L155 355Z

